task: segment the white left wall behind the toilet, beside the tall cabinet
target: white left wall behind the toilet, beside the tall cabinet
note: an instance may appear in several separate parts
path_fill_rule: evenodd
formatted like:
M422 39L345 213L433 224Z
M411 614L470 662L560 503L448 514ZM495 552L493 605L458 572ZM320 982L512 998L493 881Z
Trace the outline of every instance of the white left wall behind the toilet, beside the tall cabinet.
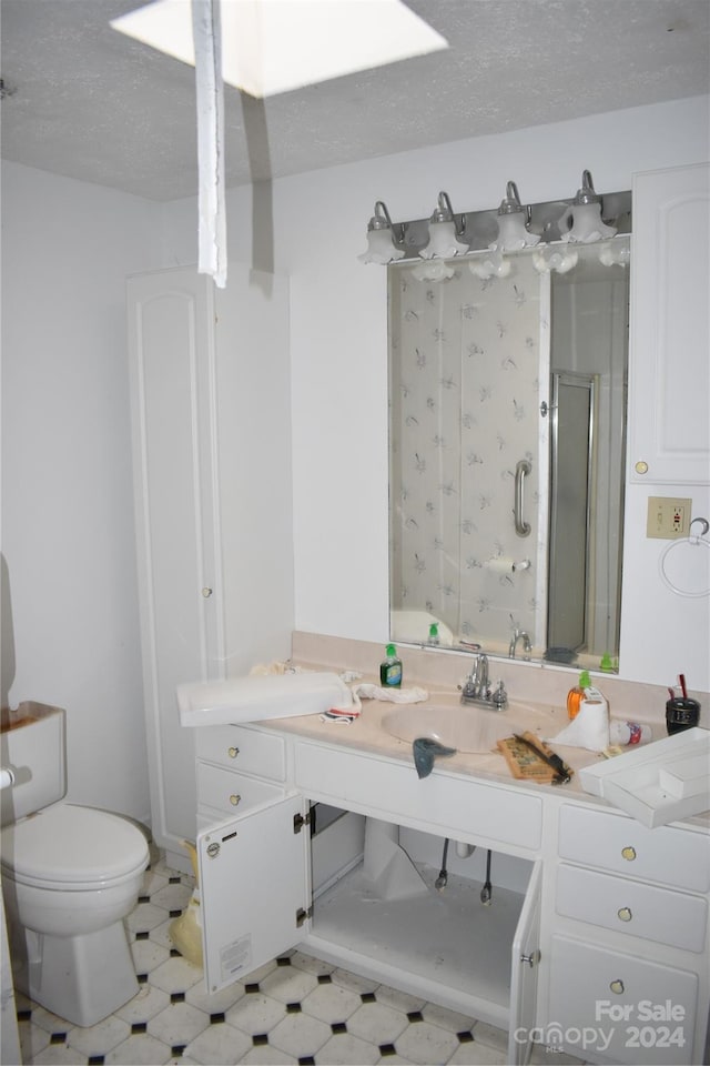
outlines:
M3 697L65 707L71 800L149 821L124 283L154 207L14 164L2 207Z

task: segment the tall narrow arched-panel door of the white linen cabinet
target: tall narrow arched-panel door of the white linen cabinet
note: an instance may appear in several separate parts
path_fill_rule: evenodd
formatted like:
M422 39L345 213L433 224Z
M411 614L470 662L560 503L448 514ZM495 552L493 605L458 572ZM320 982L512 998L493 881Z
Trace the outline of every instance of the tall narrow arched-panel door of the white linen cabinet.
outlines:
M211 464L211 290L194 270L129 279L129 343L143 687L152 831L195 834L193 735L175 686L223 674L222 582Z

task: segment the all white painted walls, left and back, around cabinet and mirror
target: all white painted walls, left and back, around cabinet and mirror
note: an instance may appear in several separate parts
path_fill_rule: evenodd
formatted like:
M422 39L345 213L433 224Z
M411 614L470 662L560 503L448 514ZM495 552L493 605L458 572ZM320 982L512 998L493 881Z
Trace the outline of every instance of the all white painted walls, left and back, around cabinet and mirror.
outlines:
M610 191L629 189L635 171L707 158L702 99L230 192L231 257L251 261L254 214L254 265L268 266L273 225L276 269L292 275L298 628L387 637L386 271L357 261L375 200L395 220L424 218L440 189L475 210L497 204L510 179L540 201L574 194L585 168ZM2 208L10 698L68 708L72 800L146 818L124 278L195 261L195 203L149 203L3 164ZM707 514L708 490L692 495ZM627 503L627 537L646 544L640 493ZM627 565L623 610L622 676L667 684L682 668L691 688L710 688L706 601L668 602L640 552Z

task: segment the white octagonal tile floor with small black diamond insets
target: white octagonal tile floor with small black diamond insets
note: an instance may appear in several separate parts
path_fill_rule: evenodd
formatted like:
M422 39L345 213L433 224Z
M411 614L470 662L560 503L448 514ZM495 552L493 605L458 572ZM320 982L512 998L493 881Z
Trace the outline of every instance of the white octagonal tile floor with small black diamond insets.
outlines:
M506 1064L501 1029L301 952L209 996L202 971L172 947L169 935L192 884L160 858L145 872L126 919L140 990L111 1017L80 1028L18 995L26 1066ZM532 1060L577 1063L544 1048L536 1048Z

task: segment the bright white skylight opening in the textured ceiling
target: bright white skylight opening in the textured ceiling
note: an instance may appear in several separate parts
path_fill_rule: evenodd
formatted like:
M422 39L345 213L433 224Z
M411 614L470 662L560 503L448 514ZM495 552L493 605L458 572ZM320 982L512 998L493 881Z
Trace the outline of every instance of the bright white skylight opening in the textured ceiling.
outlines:
M447 48L402 0L221 0L222 77L252 97ZM154 0L111 26L194 66L190 0Z

